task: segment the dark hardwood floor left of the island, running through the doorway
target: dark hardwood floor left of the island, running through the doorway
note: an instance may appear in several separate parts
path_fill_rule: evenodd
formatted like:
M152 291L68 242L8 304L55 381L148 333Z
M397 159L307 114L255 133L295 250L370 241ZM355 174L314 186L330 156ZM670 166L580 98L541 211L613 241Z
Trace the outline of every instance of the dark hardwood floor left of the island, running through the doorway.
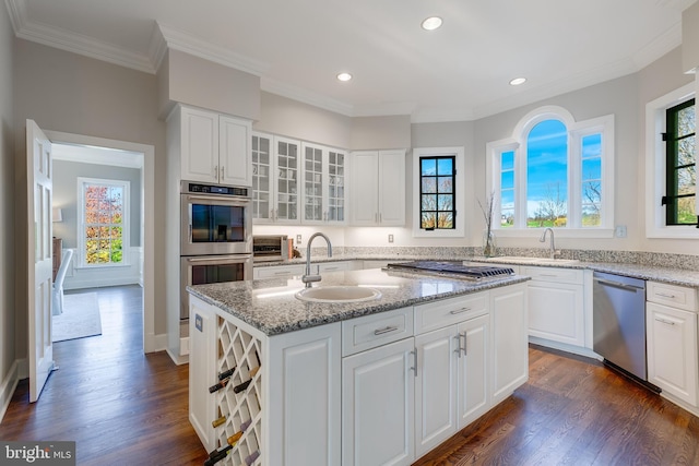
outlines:
M203 464L188 418L189 367L143 354L142 296L138 286L98 289L102 335L54 344L59 370L35 404L20 382L0 439L75 441L79 465Z

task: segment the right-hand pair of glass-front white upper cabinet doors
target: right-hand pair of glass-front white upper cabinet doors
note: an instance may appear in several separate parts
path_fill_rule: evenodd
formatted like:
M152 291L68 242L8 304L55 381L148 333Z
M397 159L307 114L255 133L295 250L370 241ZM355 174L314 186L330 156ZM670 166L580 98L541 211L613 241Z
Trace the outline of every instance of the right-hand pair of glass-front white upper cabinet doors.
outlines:
M303 223L344 225L346 222L346 153L303 143Z

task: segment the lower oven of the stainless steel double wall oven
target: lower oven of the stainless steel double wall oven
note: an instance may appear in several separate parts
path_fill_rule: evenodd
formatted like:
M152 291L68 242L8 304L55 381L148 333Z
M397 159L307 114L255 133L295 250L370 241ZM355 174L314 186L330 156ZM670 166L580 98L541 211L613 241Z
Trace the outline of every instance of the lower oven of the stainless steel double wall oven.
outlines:
M180 259L180 319L189 318L190 285L252 279L252 255L200 255Z

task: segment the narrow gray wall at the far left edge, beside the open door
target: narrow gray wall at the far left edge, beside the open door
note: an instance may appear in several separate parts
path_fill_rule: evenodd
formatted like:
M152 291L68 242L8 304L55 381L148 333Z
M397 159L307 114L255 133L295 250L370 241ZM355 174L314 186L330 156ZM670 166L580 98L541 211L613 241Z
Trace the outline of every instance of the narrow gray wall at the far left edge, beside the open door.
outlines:
M14 252L14 115L13 115L13 45L14 35L7 9L0 7L0 387L16 359ZM24 349L22 349L24 354ZM4 405L0 392L0 406Z

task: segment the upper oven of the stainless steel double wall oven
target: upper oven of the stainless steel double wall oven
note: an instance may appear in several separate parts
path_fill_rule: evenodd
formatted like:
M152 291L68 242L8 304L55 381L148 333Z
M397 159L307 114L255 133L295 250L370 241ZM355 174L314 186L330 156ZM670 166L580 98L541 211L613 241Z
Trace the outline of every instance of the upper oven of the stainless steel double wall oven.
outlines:
M249 188L181 181L180 255L251 254Z

